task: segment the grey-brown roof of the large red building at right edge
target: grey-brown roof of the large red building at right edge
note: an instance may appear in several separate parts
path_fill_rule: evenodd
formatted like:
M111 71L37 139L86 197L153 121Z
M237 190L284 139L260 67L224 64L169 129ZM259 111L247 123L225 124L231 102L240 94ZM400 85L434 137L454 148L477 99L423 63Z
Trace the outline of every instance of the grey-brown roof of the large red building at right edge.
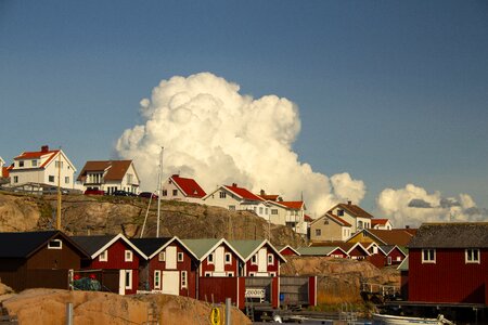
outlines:
M424 223L409 248L488 248L488 222Z

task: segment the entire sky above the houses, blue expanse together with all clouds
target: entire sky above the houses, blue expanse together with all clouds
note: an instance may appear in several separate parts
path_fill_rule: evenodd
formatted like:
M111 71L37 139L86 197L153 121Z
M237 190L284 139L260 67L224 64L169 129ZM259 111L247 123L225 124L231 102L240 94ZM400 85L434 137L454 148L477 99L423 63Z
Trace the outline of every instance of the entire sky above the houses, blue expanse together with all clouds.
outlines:
M132 158L149 188L164 145L312 217L488 216L486 1L0 0L0 107L8 162Z

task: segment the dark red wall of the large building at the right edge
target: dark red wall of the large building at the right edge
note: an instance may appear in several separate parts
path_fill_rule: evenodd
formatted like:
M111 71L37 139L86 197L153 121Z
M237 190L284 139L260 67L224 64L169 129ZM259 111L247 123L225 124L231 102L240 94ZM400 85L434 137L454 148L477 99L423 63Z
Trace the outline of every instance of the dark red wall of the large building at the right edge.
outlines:
M422 250L409 250L409 301L485 303L488 249L480 263L465 263L464 249L436 249L435 263L422 263Z

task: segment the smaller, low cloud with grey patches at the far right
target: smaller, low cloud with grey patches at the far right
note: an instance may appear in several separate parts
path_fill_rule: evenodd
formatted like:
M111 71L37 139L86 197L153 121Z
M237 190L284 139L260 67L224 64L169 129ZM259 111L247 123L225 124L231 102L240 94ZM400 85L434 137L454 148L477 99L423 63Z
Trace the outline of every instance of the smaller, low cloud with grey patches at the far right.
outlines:
M488 211L477 208L467 194L442 197L440 192L427 193L413 184L383 190L376 206L397 227L419 226L423 222L481 221L488 217Z

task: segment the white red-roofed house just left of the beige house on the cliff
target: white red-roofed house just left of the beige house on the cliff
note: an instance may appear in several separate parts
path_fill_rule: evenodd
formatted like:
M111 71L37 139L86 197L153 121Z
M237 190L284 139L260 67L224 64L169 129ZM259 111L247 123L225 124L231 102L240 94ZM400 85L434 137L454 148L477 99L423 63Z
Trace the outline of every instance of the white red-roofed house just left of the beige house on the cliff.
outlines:
M268 200L270 207L269 221L292 227L298 234L307 234L305 222L305 203L303 200Z

